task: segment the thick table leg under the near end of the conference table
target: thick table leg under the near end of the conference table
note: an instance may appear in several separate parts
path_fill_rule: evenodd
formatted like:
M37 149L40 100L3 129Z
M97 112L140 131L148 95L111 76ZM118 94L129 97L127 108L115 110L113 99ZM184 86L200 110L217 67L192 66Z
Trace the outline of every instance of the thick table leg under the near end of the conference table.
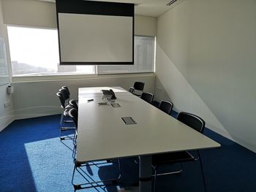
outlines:
M151 155L141 155L140 156L140 192L151 191Z

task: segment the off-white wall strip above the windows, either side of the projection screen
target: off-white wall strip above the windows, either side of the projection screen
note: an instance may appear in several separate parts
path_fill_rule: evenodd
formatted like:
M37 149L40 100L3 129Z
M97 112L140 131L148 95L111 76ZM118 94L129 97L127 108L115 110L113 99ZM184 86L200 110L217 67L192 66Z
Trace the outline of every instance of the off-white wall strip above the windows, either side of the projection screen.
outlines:
M54 3L35 0L2 0L4 23L56 28ZM135 15L135 35L155 36L157 18Z

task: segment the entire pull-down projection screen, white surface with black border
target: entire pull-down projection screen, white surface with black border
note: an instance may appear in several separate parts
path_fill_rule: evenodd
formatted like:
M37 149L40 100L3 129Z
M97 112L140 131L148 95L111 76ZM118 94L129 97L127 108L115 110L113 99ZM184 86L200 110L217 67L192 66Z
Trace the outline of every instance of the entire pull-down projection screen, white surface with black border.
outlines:
M60 64L133 64L133 4L131 9L131 4L112 2L63 2L65 6L59 6L56 1ZM78 2L79 9L74 6ZM86 8L80 9L82 5ZM127 5L132 13L127 13Z

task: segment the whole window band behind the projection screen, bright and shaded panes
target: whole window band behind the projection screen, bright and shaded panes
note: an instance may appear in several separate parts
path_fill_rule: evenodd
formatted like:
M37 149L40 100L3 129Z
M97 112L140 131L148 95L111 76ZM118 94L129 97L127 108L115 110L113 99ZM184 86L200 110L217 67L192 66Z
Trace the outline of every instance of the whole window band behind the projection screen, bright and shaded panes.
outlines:
M12 76L154 72L155 37L135 36L135 64L60 66L58 32L50 28L7 26Z

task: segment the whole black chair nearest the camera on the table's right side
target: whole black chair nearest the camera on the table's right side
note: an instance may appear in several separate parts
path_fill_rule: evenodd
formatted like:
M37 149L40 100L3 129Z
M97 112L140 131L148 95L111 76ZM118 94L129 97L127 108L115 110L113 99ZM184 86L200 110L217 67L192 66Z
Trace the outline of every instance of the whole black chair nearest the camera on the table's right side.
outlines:
M186 124L187 126L194 128L196 131L203 134L203 130L205 128L205 121L201 118L199 118L197 115L193 115L188 112L180 112L178 113L177 120L181 121L182 123ZM197 150L197 158L195 158L193 155L191 155L188 151L180 151L180 152L174 152L174 153L162 153L157 155L152 155L152 166L154 168L154 191L156 189L157 184L157 176L159 175L165 175L165 174L176 174L182 172L182 164L181 164L181 170L176 172L167 172L162 174L157 174L157 171L159 169L159 166L163 166L166 164L176 164L181 163L185 161L196 161L199 160L200 162L200 169L202 172L203 177L203 185L206 191L206 182L203 174L203 166L202 162L200 161L200 151Z

